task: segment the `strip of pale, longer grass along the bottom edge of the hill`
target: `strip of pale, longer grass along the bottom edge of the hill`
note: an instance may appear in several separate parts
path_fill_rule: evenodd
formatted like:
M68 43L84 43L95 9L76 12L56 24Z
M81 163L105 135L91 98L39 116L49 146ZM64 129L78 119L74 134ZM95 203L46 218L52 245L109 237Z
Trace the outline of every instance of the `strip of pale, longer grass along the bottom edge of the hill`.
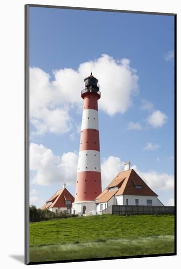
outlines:
M95 259L174 252L173 235L140 237L135 239L108 239L103 241L30 247L30 261Z

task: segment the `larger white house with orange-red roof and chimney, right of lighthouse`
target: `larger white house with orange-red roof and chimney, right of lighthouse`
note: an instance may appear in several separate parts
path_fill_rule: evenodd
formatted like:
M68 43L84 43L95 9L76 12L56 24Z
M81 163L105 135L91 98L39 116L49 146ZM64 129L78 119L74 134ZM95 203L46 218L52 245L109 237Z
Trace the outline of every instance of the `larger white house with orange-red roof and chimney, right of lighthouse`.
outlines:
M124 164L120 172L110 184L96 197L96 210L102 211L110 205L160 205L158 195L141 179L130 162Z

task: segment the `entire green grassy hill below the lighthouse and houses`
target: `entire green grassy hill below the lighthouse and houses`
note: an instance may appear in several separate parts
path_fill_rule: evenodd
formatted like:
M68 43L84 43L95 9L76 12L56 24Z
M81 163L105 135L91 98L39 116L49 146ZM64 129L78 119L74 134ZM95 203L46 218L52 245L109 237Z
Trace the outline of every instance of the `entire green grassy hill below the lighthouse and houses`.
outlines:
M174 215L98 215L30 223L30 259L174 252Z

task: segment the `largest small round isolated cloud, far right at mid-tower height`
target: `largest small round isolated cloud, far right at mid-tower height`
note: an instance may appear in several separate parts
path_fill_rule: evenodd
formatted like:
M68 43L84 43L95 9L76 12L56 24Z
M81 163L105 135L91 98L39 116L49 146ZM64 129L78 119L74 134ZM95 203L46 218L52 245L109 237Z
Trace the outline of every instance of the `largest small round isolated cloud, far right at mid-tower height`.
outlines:
M167 116L160 110L152 112L151 115L147 118L147 123L153 128L161 127L166 122Z

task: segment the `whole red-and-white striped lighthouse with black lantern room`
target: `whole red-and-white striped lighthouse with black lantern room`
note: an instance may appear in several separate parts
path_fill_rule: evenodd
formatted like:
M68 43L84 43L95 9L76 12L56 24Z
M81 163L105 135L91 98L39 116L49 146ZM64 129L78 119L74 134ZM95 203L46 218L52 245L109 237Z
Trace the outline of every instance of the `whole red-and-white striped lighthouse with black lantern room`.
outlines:
M80 150L76 179L75 214L96 210L94 199L101 193L101 162L98 122L98 100L101 98L98 79L92 75L84 79Z

